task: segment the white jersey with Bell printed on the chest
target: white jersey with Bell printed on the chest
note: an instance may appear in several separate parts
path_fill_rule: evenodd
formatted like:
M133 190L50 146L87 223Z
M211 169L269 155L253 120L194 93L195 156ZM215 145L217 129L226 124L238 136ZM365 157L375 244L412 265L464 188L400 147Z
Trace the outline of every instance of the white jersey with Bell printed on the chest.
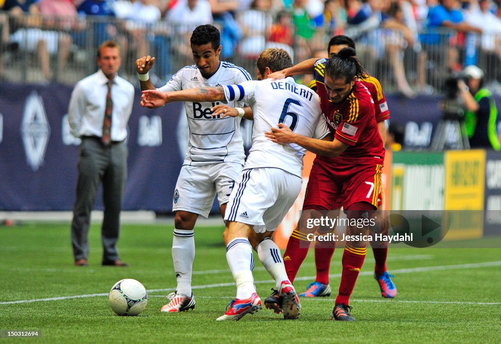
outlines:
M204 78L196 65L179 69L162 87L162 92L187 88L224 86L252 79L242 67L220 61L217 71L208 79ZM219 162L243 164L243 140L240 134L239 117L212 117L210 108L219 102L186 101L186 117L189 126L188 151L184 165L205 165ZM230 106L244 106L242 99L234 99Z

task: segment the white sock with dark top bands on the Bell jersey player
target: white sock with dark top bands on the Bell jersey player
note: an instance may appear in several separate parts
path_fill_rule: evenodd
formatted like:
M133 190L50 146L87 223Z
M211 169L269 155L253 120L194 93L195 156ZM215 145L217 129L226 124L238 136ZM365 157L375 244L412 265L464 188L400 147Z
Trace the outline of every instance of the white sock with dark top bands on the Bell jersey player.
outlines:
M191 296L191 272L195 260L195 238L193 230L174 229L172 239L172 260L176 272L177 293Z

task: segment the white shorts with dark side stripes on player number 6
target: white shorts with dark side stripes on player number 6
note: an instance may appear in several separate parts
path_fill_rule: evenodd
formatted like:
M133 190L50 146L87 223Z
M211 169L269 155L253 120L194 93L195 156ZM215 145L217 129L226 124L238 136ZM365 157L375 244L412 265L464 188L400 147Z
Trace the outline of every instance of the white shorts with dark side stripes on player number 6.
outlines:
M229 196L224 219L252 224L258 233L276 230L298 198L302 182L280 168L244 169Z

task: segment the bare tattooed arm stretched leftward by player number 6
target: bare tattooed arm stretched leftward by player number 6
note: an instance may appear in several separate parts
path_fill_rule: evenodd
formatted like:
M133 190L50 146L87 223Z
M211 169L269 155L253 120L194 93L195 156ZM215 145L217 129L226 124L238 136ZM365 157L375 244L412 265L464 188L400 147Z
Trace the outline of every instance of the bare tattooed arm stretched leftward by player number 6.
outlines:
M158 89L143 90L141 105L144 107L157 108L173 101L222 101L224 91L221 86L188 88L180 91L162 92Z

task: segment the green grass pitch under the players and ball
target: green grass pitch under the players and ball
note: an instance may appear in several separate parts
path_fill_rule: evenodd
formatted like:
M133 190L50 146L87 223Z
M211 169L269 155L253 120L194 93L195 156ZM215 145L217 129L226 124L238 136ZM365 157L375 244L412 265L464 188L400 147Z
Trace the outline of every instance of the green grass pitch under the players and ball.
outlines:
M26 223L0 226L0 330L39 330L38 338L0 341L47 343L499 343L501 337L501 249L391 249L390 273L398 288L383 299L366 262L352 296L356 322L330 321L334 296L302 299L298 320L263 309L240 321L215 321L235 288L222 244L222 228L198 227L193 311L165 314L160 307L173 291L172 225L123 225L121 258L129 267L101 266L99 225L90 235L90 266L73 266L69 224ZM485 239L484 239L485 240ZM494 241L493 241L494 240ZM501 239L497 241L501 247ZM314 279L313 251L295 282L298 291ZM342 249L334 254L331 286L339 286ZM257 256L256 256L257 258ZM262 298L274 286L256 259L255 279ZM122 278L135 278L149 290L148 305L136 317L122 317L108 305L107 293ZM222 284L222 285L221 285ZM97 295L93 295L97 294ZM41 300L48 298L48 300ZM56 299L58 298L58 299ZM25 302L12 302L30 300Z

